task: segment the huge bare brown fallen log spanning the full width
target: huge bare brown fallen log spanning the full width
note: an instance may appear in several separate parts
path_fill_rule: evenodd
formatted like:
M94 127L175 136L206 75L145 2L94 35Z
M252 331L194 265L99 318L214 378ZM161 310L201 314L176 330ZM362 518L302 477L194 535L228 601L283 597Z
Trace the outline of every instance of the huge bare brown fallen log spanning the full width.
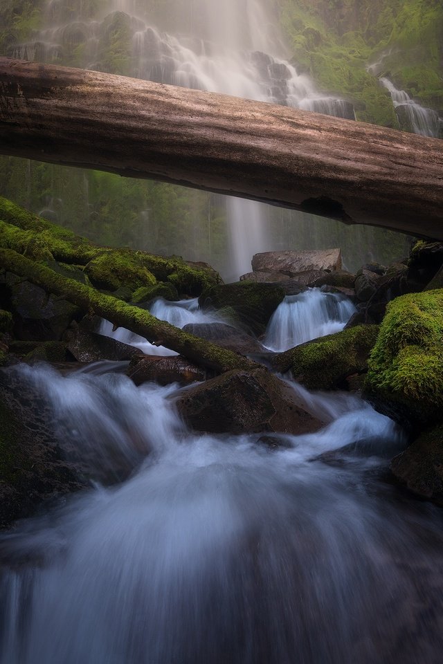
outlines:
M443 239L443 142L318 113L0 58L0 152Z

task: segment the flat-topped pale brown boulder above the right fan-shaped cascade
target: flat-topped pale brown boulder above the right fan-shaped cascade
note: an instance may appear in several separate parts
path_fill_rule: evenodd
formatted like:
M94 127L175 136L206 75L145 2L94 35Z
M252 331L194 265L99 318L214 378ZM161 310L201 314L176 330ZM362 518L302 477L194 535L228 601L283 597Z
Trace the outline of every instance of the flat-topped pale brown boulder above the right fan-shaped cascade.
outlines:
M252 259L254 272L281 272L288 277L312 270L340 270L341 250L266 251Z

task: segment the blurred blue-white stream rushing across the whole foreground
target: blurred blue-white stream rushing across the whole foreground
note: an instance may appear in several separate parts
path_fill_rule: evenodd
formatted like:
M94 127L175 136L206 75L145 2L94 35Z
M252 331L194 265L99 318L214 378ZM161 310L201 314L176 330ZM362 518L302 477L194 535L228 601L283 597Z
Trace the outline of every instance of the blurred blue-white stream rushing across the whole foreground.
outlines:
M1 535L1 664L440 663L441 510L388 481L405 441L367 403L293 385L327 425L270 450L190 432L174 385L8 371L132 472Z

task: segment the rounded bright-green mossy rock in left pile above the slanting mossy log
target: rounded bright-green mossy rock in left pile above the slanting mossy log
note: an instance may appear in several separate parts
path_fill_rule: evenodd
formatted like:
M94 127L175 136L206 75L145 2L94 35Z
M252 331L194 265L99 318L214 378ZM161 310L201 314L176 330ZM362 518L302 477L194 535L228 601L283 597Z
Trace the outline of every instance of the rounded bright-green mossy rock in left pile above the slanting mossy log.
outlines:
M105 250L89 261L84 272L96 288L117 291L126 286L132 291L142 286L154 286L156 278L143 261L130 250Z

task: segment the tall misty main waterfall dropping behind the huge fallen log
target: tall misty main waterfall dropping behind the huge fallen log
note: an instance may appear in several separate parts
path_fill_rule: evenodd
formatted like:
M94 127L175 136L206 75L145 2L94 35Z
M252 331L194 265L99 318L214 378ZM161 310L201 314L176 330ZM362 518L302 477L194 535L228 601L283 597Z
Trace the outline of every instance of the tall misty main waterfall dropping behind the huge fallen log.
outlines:
M60 24L64 15L57 9L62 4L57 3L55 10L53 1L48 2L48 21L55 20L56 25L42 30L35 41L17 46L15 57L46 62L68 58L85 68L98 68L100 39L114 26L114 30L132 35L130 73L138 78L354 118L352 104L321 95L307 75L299 75L284 59L280 36L271 30L271 21L258 0L226 0L222 6L193 1L192 36L154 28L146 17L140 17L146 3L108 2L100 20L84 19L80 9L75 20ZM238 279L250 271L253 254L272 248L266 207L233 198L227 199L226 209L230 274L224 276Z

